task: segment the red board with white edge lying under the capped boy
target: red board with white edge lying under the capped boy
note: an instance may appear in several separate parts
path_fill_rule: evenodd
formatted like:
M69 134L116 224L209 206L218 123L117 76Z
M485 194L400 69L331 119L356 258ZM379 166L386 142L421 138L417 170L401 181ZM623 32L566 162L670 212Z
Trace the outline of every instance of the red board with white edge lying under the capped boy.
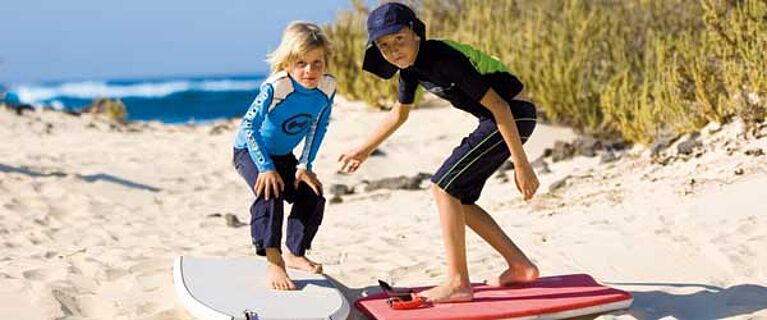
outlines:
M474 301L395 310L385 293L358 299L354 304L378 320L421 319L565 319L627 309L630 293L603 286L586 274L542 277L509 287L475 284ZM429 287L413 288L417 293Z

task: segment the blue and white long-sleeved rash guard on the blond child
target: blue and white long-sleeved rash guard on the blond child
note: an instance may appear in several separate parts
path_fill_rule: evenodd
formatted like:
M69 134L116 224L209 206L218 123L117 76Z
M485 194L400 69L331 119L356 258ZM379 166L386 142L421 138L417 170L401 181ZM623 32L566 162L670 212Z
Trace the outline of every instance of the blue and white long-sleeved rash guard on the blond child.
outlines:
M309 89L286 72L270 76L243 117L234 147L247 148L258 171L264 172L275 169L270 155L289 154L304 140L298 168L311 170L330 120L335 81L325 74L317 88Z

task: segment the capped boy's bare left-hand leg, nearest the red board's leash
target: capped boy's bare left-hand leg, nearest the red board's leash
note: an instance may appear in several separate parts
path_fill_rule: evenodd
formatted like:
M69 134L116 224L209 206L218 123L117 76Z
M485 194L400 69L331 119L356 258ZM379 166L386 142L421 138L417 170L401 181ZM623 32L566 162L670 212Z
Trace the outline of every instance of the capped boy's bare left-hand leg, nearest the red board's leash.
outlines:
M421 296L430 302L471 301L474 294L469 282L469 268L466 265L466 226L461 201L433 187L434 198L439 208L442 239L445 243L447 258L447 282L421 292Z

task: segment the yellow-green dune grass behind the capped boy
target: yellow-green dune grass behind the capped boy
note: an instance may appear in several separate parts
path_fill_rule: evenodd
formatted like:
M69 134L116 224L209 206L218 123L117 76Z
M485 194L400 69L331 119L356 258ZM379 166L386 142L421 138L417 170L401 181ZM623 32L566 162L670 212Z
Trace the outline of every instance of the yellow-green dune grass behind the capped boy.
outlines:
M649 143L733 117L764 121L767 0L404 1L427 37L499 57L553 122ZM339 92L391 106L394 80L361 69L370 8L325 29Z

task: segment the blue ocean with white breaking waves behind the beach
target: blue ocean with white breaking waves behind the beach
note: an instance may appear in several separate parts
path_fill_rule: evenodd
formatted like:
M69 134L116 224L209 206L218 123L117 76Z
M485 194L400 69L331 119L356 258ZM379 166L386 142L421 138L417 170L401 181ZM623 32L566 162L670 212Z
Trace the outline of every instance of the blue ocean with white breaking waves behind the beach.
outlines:
M240 117L266 75L57 81L12 86L22 103L79 111L95 98L120 99L127 120L171 124Z

